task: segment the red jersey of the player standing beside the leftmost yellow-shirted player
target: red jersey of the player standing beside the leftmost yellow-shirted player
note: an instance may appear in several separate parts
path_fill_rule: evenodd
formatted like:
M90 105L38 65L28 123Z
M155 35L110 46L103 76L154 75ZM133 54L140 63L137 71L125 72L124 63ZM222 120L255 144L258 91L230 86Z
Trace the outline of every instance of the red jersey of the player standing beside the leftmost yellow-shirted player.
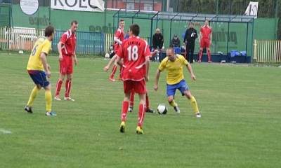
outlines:
M72 34L70 30L65 31L60 38L60 42L63 43L62 52L63 55L72 56L76 49L76 34Z

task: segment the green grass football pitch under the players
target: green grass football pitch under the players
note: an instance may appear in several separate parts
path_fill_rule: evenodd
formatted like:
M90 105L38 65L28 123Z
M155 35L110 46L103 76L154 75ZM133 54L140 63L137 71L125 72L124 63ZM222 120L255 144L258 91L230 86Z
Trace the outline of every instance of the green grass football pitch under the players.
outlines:
M176 95L181 114L147 114L137 135L137 111L119 133L122 83L110 83L107 61L79 58L74 69L75 102L54 102L56 117L44 116L44 92L34 113L23 111L33 83L28 55L0 53L0 167L280 167L281 70L246 65L193 64L196 82L185 79L202 118ZM58 57L48 57L54 94ZM165 103L165 74L152 90L152 109ZM62 94L64 89L62 89ZM138 98L136 97L136 101ZM5 131L11 131L6 134Z

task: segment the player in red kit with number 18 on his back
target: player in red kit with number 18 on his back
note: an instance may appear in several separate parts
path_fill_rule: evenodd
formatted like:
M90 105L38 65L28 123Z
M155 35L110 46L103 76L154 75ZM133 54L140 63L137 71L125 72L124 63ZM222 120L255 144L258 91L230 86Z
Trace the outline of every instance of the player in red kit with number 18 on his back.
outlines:
M126 39L117 51L117 63L123 67L122 80L124 83L124 101L122 103L122 123L120 132L125 132L126 116L129 108L129 98L132 90L138 93L140 104L138 106L137 134L143 134L143 120L145 118L145 81L148 81L150 63L150 48L148 43L138 37L140 27L136 24L130 26L130 38ZM123 61L122 61L123 59Z

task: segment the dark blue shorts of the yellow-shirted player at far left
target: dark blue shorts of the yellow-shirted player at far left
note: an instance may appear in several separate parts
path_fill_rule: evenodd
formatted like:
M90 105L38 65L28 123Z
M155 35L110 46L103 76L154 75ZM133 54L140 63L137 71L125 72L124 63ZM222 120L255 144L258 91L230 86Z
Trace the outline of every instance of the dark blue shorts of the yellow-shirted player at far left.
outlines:
M36 85L40 85L41 87L47 87L50 85L50 82L47 80L46 73L44 71L29 70L28 74L30 74L30 78L32 78Z

